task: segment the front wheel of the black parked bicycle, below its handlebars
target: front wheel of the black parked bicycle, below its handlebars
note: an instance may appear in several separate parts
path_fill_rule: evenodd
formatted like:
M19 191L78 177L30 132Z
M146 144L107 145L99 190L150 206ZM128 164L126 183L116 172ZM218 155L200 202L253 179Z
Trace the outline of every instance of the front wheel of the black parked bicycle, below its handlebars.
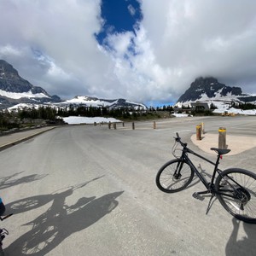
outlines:
M194 174L195 172L184 160L170 160L160 167L155 177L155 183L161 191L175 193L185 189L191 183Z

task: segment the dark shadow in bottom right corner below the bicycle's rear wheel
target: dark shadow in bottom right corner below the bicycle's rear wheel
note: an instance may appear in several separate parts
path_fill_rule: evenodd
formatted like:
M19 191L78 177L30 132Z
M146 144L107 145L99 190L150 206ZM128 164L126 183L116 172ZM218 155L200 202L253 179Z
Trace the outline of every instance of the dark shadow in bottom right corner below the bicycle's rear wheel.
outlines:
M227 256L255 256L256 255L256 225L247 224L236 218L232 219L234 229L231 233L230 240L226 245ZM237 235L240 224L243 224L247 236L244 236L241 240L237 241Z

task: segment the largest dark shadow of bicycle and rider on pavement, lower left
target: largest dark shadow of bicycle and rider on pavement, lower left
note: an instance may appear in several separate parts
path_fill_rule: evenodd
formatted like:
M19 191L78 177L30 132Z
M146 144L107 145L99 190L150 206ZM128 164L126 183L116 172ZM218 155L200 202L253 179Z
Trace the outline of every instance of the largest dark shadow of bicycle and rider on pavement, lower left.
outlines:
M84 186L84 185L83 185ZM75 187L76 189L81 188ZM61 193L49 195L53 201L51 207L25 225L31 225L32 230L20 236L16 241L5 248L7 255L33 255L43 256L57 247L61 241L75 232L84 230L90 225L95 224L100 218L104 217L109 212L112 212L118 206L116 200L124 191L114 192L107 195L102 195L99 198L95 196L82 197L72 206L67 206L65 200L67 196L73 194L74 187L67 189ZM44 203L49 202L45 200ZM39 198L37 198L39 200ZM26 201L26 200L23 200ZM31 198L28 198L31 201ZM43 203L43 204L44 204ZM35 206L28 204L30 209ZM18 205L15 204L15 207ZM20 205L21 208L24 205ZM41 203L36 207L42 206ZM12 208L9 206L9 208ZM25 207L23 210L27 211ZM22 211L22 210L21 210Z

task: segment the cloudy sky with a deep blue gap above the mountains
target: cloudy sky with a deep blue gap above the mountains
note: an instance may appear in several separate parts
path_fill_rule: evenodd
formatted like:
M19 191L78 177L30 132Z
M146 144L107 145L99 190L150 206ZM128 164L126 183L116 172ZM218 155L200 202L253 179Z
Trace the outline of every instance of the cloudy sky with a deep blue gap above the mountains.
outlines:
M256 94L252 0L0 0L0 59L63 99L176 102L199 76Z

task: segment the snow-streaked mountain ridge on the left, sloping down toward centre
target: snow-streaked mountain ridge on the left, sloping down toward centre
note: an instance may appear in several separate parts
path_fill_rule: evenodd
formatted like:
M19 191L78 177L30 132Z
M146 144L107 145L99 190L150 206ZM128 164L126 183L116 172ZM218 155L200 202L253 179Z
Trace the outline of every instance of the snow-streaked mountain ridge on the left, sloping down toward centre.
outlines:
M26 106L26 104L28 104ZM0 60L0 109L29 108L34 105L47 105L50 107L66 107L70 104L87 107L108 108L143 108L143 103L131 102L125 99L101 99L93 96L75 96L64 101L59 96L50 96L46 90L30 84L22 79L18 71L7 61Z

